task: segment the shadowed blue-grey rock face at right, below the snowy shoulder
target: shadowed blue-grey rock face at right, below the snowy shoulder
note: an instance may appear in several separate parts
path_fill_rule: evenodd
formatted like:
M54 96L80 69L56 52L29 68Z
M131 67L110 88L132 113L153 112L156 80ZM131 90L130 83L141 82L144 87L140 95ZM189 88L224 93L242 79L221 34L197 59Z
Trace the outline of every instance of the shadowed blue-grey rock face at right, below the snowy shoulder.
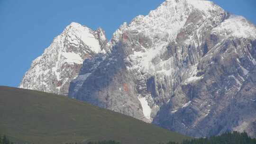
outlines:
M255 40L231 38L213 47L153 123L198 137L232 130L255 137L255 46Z

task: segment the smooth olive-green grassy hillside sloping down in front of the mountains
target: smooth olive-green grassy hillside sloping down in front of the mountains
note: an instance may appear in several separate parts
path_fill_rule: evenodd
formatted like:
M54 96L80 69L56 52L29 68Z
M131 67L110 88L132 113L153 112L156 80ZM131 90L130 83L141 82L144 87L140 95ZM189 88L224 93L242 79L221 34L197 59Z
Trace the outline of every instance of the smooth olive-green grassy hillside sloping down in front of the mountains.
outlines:
M3 86L0 86L0 133L34 144L91 140L158 144L189 138L74 99Z

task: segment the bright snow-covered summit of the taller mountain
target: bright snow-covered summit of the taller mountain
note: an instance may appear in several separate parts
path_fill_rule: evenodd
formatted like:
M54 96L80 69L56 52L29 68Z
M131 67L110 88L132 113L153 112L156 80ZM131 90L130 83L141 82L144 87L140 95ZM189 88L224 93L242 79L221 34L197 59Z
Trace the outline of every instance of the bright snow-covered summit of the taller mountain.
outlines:
M164 33L170 38L175 38L194 11L200 11L205 19L217 18L213 17L213 11L224 12L218 5L207 0L166 0L145 17L134 18L129 24L129 29L146 32L148 35Z

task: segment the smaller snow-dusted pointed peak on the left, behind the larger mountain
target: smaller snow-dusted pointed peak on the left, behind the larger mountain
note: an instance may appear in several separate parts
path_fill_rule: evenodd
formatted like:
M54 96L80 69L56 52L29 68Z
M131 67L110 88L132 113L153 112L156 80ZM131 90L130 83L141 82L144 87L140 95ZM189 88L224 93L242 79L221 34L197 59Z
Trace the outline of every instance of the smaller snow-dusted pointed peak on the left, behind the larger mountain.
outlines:
M37 57L25 73L19 88L67 95L69 83L79 73L85 58L105 53L104 31L71 23L54 38L44 54Z

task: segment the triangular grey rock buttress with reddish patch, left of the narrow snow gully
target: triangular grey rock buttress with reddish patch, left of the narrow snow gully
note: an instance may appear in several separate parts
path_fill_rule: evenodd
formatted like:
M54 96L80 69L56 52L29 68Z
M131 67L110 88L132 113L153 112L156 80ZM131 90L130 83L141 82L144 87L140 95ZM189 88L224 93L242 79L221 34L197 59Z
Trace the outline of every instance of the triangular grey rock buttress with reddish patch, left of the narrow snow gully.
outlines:
M125 65L124 45L115 46L107 56L86 59L70 83L69 97L147 121L137 99L135 76Z

